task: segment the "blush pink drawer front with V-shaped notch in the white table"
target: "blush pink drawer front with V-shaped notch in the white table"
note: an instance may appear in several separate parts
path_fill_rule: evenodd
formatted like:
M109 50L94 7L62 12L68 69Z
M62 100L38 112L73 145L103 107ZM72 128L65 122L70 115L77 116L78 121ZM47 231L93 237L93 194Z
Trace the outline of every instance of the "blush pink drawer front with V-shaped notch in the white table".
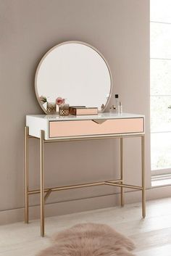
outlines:
M117 133L143 133L143 126L143 117L108 120L50 121L49 138Z

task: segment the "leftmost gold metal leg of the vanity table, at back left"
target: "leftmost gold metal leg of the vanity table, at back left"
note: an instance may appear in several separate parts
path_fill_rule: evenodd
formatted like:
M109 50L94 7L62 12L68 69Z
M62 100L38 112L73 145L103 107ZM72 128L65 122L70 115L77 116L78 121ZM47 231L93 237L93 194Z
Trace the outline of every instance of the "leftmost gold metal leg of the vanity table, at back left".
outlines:
M28 127L25 126L25 223L28 223L28 189L29 189L29 173L28 173Z

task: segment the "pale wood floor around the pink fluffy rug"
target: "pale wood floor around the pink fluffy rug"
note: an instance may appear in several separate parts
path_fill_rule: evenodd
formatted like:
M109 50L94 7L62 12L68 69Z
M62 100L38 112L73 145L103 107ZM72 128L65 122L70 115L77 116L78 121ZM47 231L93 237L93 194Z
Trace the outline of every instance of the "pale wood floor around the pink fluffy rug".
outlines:
M106 223L135 242L137 256L171 255L171 198L147 202L147 216L141 219L141 204L111 207L46 218L46 236L39 234L39 220L29 224L0 226L0 256L33 256L50 244L57 231L76 223Z

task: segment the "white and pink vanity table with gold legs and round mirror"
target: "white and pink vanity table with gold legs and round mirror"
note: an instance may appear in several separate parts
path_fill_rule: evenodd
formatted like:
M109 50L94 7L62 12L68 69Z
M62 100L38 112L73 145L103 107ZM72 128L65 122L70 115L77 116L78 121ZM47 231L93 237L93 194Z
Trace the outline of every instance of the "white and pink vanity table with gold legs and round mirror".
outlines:
M64 55L65 52L67 52L66 55ZM65 61L64 57L67 58L65 59ZM73 60L73 57L74 59L76 59L74 62L75 65L72 65L71 62L71 59ZM90 60L89 62L88 57ZM66 63L68 64L68 62L71 63L67 67ZM64 67L62 67L62 63L64 63ZM93 73L92 69L94 69ZM83 76L85 72L86 75ZM66 77L66 73L69 74L69 76ZM80 73L81 76L78 75ZM90 77L91 79L89 79ZM49 81L51 83L49 83ZM62 86L60 86L59 88L57 84L60 84ZM74 93L72 89L68 88L68 84L70 84L71 87L74 88ZM80 89L81 85L83 86ZM85 90L85 86L88 89ZM94 86L95 88L93 88ZM98 86L98 91L96 91L96 86ZM93 95L90 95L90 89ZM75 91L77 91L77 94L75 93ZM95 97L95 93L98 94L99 97ZM66 95L66 98L68 100L70 99L72 105L83 104L88 107L97 106L99 113L98 115L59 116L57 113L56 115L26 116L25 223L28 223L29 220L28 210L30 195L41 194L41 236L44 236L44 205L51 192L102 185L120 187L121 206L124 205L124 188L141 191L142 216L143 218L145 218L145 117L144 115L135 115L128 113L122 113L121 115L118 115L117 113L104 112L112 94L112 75L109 70L109 65L107 64L104 57L99 53L99 51L94 49L92 46L89 46L88 44L75 41L65 42L50 49L45 54L43 59L41 59L41 62L38 65L38 69L36 70L36 96L39 104L41 105L41 108L46 114L47 106L44 102L42 102L42 99L44 99L45 96L52 97L54 96L54 94L56 94L57 96ZM141 186L130 185L125 183L124 181L123 140L127 137L140 137L141 139ZM40 145L41 186L38 189L30 189L28 183L28 154L30 139L38 139ZM73 184L70 186L66 185L45 188L44 146L46 143L57 143L59 141L85 141L95 139L120 139L120 177L117 180L99 181L97 177L97 181L93 183L81 183Z

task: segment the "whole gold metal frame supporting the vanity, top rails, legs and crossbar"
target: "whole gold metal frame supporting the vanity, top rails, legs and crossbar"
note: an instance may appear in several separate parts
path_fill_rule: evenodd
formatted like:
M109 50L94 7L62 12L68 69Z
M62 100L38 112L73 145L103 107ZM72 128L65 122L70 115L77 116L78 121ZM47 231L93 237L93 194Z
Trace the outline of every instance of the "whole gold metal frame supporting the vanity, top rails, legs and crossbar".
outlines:
M141 186L133 186L124 183L124 168L123 168L123 139L126 137L141 137ZM124 206L124 188L135 189L142 191L142 217L146 217L146 195L145 195L145 134L129 134L122 136L109 136L109 137L91 137L85 139L57 139L57 140L45 140L44 131L40 131L40 173L41 173L41 188L35 190L29 190L29 165L28 165L28 152L29 144L28 139L36 138L29 136L28 127L25 127L25 223L28 223L29 220L29 196L31 194L41 194L41 236L44 236L44 205L46 199L50 196L52 191L62 191L66 189L78 189L88 186L118 186L120 187L120 205ZM57 186L54 188L44 187L44 144L50 142L59 142L59 141L78 141L78 140L93 140L93 139L120 139L120 178L112 181L97 181L92 183L81 183L70 186ZM39 138L36 138L39 139Z

